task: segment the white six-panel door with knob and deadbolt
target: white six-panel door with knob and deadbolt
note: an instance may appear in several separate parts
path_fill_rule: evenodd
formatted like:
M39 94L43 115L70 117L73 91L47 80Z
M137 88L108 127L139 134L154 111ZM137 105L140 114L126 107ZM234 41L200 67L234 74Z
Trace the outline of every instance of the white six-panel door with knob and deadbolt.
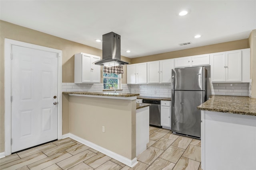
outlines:
M58 54L12 45L12 56L11 152L16 152L58 138Z

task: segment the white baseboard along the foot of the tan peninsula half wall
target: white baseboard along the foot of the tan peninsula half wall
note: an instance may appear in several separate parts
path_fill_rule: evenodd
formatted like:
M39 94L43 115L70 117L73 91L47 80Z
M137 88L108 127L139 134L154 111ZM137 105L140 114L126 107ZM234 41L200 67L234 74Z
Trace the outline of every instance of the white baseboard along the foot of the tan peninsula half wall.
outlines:
M126 164L127 166L130 166L131 168L134 167L138 163L137 157L132 160L128 159L120 154L112 152L111 150L105 149L105 148L100 147L99 145L96 145L90 141L86 141L85 139L82 139L76 135L73 135L72 133L67 133L67 134L62 135L62 139L67 138L67 137L70 137L71 139L74 139L92 149L102 152L103 154L106 154L107 156L114 158L115 160L118 160L119 162L122 162L123 164Z

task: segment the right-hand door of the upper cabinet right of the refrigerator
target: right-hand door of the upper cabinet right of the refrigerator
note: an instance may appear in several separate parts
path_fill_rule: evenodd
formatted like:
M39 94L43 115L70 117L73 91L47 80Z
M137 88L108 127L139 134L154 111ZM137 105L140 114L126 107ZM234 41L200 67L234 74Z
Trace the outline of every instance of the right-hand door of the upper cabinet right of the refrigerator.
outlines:
M242 81L241 51L226 52L226 82Z

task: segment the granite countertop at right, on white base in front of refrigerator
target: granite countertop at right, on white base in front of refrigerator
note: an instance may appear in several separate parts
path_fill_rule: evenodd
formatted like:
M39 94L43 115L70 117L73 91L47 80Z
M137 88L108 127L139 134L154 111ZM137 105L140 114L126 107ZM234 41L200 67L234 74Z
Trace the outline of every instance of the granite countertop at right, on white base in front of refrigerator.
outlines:
M197 109L256 116L256 99L247 96L212 95Z

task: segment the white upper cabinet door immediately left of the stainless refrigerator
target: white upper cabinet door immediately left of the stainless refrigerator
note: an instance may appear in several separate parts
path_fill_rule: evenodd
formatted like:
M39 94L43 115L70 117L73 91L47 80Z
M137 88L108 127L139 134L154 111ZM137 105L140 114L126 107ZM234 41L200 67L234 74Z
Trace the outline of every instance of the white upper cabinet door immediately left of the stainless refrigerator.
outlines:
M174 59L160 61L160 83L171 83Z

